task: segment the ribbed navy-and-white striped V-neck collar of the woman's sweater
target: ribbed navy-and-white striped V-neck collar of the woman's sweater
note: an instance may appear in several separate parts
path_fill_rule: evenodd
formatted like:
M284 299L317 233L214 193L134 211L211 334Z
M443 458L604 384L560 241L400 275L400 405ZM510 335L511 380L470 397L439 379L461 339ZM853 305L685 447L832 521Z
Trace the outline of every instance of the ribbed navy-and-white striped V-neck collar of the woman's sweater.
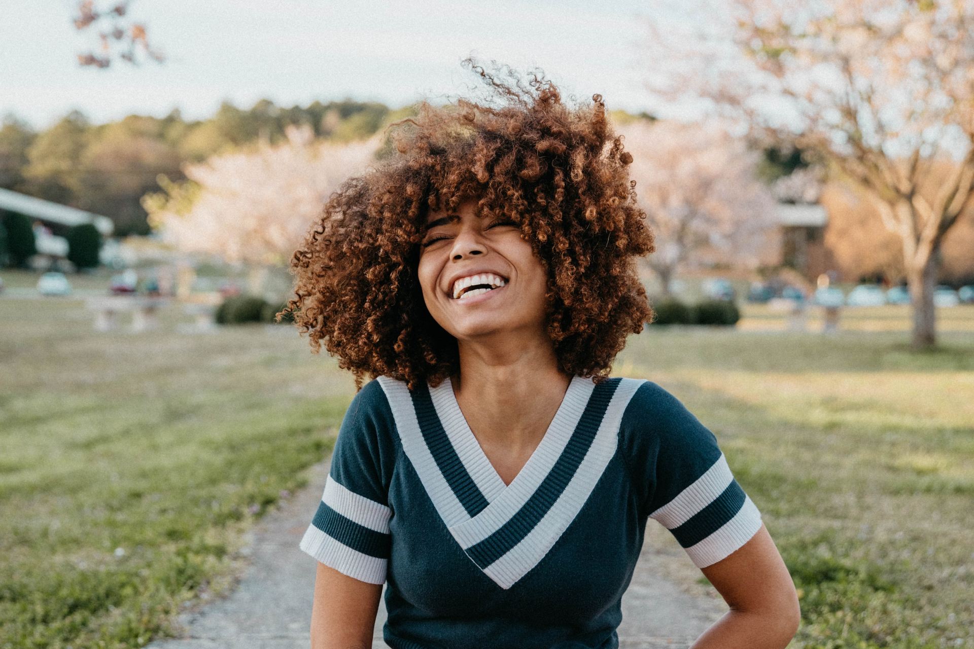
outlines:
M542 442L505 485L448 380L416 390L390 377L379 381L402 450L440 519L468 558L504 589L543 559L578 516L616 453L622 414L643 382L595 385L573 378Z

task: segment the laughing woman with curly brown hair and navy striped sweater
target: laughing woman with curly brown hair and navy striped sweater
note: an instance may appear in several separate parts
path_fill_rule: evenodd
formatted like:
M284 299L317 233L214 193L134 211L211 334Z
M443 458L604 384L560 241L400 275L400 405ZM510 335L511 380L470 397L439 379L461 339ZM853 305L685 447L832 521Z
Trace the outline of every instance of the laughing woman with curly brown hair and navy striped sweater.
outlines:
M784 647L795 589L714 435L608 376L654 247L601 96L465 63L495 95L424 103L292 259L289 309L360 388L301 541L313 647L371 647L383 584L393 649L617 647L649 518L731 606L693 647Z

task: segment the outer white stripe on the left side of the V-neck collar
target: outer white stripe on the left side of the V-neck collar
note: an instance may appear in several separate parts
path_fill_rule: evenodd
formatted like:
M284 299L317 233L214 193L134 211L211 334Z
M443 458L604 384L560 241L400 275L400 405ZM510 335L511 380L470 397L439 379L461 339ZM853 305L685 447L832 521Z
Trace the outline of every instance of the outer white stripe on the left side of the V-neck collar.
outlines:
M416 474L420 477L420 482L423 483L443 523L450 527L468 521L470 517L467 510L443 478L430 449L427 448L406 382L386 376L378 377L377 380L385 391L393 411L402 450L416 469Z

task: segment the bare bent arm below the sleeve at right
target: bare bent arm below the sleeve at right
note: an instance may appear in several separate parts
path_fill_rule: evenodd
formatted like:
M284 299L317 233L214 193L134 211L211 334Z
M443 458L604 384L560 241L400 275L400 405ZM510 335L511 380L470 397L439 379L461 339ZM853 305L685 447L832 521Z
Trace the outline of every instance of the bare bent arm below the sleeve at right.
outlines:
M783 649L802 620L795 584L768 528L730 555L700 568L731 610L690 649Z

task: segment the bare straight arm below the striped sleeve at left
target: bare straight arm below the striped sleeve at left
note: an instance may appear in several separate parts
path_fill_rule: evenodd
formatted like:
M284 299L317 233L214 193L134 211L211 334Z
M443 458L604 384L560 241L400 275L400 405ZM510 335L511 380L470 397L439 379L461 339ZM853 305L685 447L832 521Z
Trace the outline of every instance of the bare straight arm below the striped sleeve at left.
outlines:
M318 561L311 612L312 649L372 649L382 584L369 584Z

